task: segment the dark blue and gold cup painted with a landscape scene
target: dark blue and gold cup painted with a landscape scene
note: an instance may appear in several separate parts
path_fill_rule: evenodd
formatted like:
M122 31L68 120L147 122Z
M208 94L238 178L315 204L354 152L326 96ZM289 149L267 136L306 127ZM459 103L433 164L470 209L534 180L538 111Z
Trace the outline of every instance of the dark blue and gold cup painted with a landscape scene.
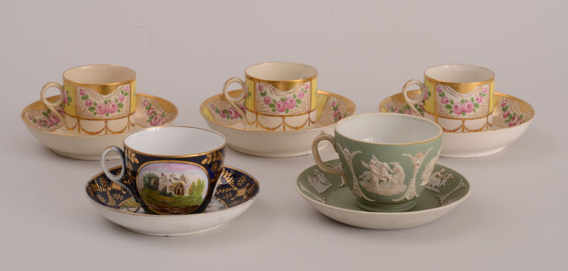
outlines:
M104 174L133 194L148 214L205 210L224 164L222 134L190 126L153 127L129 134L123 145L124 151L111 146L102 153ZM105 164L111 151L121 156L119 175Z

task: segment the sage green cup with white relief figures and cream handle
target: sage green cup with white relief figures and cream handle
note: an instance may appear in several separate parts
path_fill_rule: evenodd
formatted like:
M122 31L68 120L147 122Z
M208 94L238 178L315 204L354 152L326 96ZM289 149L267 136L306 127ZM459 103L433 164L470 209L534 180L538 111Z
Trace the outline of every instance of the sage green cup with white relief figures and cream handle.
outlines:
M325 165L317 145L328 140L340 164ZM323 172L340 175L367 211L408 211L424 191L439 157L442 128L426 118L376 113L344 118L334 136L321 133L312 143Z

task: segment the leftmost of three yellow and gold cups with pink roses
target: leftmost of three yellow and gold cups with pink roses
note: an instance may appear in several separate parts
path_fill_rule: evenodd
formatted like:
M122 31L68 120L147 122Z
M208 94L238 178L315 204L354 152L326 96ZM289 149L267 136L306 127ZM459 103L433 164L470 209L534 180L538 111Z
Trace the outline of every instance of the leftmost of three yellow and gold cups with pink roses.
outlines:
M53 102L45 99L52 87L61 92ZM136 128L136 72L115 65L74 67L63 72L62 85L48 82L43 86L41 101L63 120L68 133L128 133Z

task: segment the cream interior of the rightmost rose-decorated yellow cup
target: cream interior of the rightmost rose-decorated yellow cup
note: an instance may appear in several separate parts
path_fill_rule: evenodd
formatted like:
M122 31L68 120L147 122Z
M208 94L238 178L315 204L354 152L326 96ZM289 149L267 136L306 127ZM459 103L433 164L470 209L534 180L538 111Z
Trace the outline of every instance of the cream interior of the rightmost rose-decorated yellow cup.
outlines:
M424 74L437 81L449 83L483 82L495 77L491 70L484 67L461 64L429 67L424 71Z

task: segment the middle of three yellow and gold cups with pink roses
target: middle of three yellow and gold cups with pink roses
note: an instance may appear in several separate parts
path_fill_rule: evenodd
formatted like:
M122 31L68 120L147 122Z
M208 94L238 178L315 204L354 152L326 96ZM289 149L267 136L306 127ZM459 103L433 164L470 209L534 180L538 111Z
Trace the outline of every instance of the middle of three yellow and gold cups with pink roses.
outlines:
M234 110L223 112L233 118L245 116L245 128L259 131L289 131L310 128L317 107L317 70L293 62L267 62L245 70L245 81L232 77L223 86L225 98ZM244 89L238 97L229 95L229 84ZM242 104L241 101L244 101Z

